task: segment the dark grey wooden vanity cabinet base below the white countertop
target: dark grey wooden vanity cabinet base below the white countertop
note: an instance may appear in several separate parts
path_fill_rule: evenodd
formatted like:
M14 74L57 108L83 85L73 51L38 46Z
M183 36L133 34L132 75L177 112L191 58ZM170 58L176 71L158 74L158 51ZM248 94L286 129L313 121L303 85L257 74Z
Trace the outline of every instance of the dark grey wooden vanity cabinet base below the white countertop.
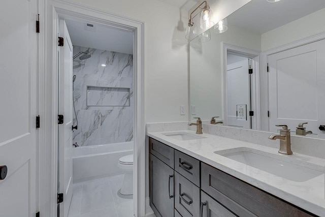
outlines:
M150 137L149 152L157 217L316 216Z

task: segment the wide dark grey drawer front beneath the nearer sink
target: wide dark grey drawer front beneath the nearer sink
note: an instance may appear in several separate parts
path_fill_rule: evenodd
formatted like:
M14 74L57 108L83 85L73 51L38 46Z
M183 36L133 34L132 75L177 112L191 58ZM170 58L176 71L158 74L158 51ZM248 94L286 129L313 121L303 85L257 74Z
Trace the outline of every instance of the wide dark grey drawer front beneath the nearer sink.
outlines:
M202 190L239 216L313 216L207 164L201 173Z

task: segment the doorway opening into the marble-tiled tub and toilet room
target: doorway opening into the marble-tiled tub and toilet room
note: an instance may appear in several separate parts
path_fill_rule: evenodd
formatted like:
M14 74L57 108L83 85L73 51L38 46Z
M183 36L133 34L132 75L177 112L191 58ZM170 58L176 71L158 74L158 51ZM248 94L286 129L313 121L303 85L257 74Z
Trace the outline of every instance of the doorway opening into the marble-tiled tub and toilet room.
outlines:
M58 25L60 216L132 217L133 32L61 17Z

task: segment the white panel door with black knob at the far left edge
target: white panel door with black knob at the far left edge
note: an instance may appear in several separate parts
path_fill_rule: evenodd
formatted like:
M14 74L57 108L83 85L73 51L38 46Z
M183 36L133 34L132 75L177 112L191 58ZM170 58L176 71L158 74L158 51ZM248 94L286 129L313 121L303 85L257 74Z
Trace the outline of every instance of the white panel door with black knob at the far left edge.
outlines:
M0 216L36 213L36 0L0 1Z

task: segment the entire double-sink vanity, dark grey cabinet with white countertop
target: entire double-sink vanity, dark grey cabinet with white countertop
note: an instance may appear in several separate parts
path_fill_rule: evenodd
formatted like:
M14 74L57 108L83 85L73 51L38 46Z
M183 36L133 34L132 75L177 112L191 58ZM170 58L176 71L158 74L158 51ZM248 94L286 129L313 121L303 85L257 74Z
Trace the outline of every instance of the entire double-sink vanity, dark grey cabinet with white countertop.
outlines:
M157 217L325 216L325 159L192 130L147 135Z

